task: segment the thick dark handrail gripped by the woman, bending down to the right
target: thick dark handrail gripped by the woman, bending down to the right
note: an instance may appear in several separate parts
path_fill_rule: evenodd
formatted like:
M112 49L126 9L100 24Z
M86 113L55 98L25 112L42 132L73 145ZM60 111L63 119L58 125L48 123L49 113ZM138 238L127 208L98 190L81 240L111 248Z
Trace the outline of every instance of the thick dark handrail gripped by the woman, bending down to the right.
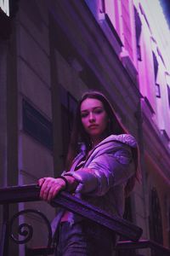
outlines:
M3 188L0 189L0 205L16 202L40 201L39 192L40 187L37 184ZM65 207L67 210L104 225L106 228L132 241L138 241L142 234L142 229L137 225L123 218L111 216L107 212L64 191L60 192L59 195L51 201L51 205L53 207Z

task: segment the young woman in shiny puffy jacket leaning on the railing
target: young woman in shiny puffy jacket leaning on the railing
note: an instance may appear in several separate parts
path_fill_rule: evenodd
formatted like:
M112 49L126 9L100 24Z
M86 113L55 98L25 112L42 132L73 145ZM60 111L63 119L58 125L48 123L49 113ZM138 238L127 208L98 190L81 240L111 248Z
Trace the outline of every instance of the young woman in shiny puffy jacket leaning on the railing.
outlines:
M103 94L85 93L77 106L66 172L57 178L39 179L41 198L50 201L65 189L122 216L125 196L136 178L138 147L134 137L127 134ZM101 225L64 210L54 219L54 230L56 227L56 255L110 256L116 242L116 236Z

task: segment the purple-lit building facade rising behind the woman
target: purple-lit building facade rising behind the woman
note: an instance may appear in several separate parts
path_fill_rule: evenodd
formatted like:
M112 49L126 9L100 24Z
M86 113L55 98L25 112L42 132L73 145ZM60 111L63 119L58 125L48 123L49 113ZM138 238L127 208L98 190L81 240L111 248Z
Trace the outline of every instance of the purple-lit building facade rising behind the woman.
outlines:
M20 0L9 9L9 17L0 14L0 185L58 176L77 99L101 90L139 142L142 182L127 200L126 218L143 229L142 239L170 247L170 66L147 5ZM11 214L27 207L54 218L43 202L14 205ZM46 244L41 219L24 218L36 230L27 246ZM11 242L10 250L22 256L25 247ZM150 249L139 253L151 255Z

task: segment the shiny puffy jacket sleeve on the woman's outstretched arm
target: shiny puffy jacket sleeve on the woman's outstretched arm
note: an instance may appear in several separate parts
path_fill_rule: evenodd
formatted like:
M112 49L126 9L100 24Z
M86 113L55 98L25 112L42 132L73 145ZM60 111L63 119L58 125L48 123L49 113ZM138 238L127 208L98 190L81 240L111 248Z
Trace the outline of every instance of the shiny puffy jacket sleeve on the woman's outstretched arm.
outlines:
M79 182L77 192L88 195L105 195L112 187L126 183L134 174L131 148L120 146L112 152L100 154L94 158L87 168L77 172L67 172Z

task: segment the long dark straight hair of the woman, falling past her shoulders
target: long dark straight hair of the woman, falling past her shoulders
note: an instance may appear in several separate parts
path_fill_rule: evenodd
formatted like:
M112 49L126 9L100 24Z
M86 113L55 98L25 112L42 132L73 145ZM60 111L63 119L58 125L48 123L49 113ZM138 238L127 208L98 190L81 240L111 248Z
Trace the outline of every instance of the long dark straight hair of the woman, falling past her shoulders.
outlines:
M99 91L88 91L85 94L82 95L82 98L78 102L77 105L77 112L75 115L74 123L73 123L73 129L71 131L71 142L69 145L69 150L67 154L65 169L69 170L71 168L72 160L76 157L78 153L78 148L81 143L84 143L86 146L87 151L91 149L91 141L88 133L84 130L82 126L82 119L81 119L81 105L82 102L86 99L97 99L100 102L103 103L103 106L105 108L105 112L107 113L109 122L105 129L105 137L110 136L111 134L119 135L119 134L125 134L128 133L127 130L123 127L121 121L116 116L116 113L114 109L111 106L111 103L108 101L108 99ZM105 138L104 137L104 138ZM135 166L137 169L138 166L138 149L133 150L134 155L134 161ZM130 190L133 189L134 183L135 183L135 177L138 178L137 172L133 178L130 178L128 183L128 188L125 188L125 194L127 195ZM127 191L126 191L127 190Z

